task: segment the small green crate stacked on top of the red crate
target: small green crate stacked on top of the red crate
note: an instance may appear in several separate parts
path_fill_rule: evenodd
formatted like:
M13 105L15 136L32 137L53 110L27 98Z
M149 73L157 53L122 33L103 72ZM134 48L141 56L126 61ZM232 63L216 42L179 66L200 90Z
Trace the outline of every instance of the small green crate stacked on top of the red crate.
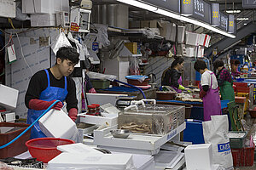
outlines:
M245 139L247 137L247 132L245 132L245 131L242 131L242 132L230 131L228 133L228 137L230 138L230 148L244 148L245 147Z

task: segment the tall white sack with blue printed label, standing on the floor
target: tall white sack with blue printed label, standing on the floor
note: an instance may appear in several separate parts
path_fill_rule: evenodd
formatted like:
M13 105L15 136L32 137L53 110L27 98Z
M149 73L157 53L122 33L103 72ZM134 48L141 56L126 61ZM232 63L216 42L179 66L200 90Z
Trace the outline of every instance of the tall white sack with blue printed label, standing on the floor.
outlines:
M206 144L212 144L213 164L219 164L226 170L233 169L230 150L229 121L227 115L211 116L212 121L202 122Z

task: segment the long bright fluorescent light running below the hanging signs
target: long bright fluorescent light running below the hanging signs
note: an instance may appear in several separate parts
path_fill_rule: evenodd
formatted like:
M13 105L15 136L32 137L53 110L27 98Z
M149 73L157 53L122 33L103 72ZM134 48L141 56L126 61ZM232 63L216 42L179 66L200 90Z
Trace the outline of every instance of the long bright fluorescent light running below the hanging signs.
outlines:
M143 8L143 9L152 11L152 12L157 13L157 14L166 15L166 16L171 17L171 18L176 19L176 20L183 20L185 22L189 22L191 24L207 28L208 30L215 31L219 34L222 34L222 35L226 36L226 37L231 37L231 38L236 37L233 34L229 34L227 31L222 31L222 30L220 30L216 27L210 26L207 23L201 22L199 20L191 19L191 18L182 16L181 14L176 14L176 13L173 13L173 12L161 9L161 8L156 8L156 7L154 7L152 5L149 5L147 3L142 3L142 2L139 2L137 0L129 0L129 1L127 1L127 0L117 0L117 1L120 2L120 3L126 3L126 4L129 4L131 6L135 6L137 8Z

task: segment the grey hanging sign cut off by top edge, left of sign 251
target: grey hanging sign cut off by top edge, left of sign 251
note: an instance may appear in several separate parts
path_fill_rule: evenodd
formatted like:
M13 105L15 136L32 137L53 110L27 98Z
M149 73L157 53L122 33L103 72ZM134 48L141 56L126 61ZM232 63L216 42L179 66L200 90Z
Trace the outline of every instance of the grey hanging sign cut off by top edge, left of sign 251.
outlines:
M173 12L180 12L180 0L143 0L143 2L153 4L156 7L172 10Z

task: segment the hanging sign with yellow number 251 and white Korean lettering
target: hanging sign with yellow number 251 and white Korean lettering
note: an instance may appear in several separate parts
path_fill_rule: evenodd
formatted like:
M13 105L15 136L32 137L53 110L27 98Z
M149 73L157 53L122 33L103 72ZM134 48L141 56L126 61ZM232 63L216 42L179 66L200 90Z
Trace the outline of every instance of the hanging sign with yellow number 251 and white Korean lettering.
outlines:
M203 0L181 0L181 14L211 24L211 5Z

